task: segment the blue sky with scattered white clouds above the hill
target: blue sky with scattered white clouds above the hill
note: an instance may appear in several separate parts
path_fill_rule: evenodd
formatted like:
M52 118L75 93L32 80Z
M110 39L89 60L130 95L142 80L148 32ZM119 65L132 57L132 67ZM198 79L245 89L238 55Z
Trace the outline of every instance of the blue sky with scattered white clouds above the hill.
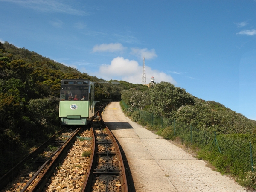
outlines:
M105 80L168 81L256 120L256 0L0 0L0 41Z

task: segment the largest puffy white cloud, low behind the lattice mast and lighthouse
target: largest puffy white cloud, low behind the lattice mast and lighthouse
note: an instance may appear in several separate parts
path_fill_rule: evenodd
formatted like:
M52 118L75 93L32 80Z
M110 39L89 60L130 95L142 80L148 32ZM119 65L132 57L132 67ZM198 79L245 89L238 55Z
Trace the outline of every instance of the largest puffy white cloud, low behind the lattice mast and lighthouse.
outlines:
M97 76L105 80L117 79L141 84L142 68L143 66L140 66L137 61L117 57L111 61L110 65L100 66ZM167 81L177 84L172 76L158 70L152 70L148 66L145 66L145 68L147 83L150 83L151 77L154 76L155 82Z

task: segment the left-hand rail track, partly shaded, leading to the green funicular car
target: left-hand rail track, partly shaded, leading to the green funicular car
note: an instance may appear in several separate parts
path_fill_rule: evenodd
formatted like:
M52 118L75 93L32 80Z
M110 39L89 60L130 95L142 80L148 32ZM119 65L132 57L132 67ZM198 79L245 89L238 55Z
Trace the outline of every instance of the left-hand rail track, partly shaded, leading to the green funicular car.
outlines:
M12 176L12 170L10 170L1 177L1 180L5 183L6 180L12 178L12 181L1 192L35 191L39 186L44 185L44 178L51 174L52 168L59 163L80 129L76 128L75 130L66 131L63 129L33 151L32 154L29 154L29 156L12 168L12 170L18 169L16 176ZM51 148L50 151L49 148Z

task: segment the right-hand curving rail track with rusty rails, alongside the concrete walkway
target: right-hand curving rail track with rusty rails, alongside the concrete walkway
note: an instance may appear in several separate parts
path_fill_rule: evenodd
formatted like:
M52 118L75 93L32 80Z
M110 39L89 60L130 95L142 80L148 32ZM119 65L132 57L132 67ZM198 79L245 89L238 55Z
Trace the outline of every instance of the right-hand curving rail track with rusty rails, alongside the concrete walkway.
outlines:
M91 122L95 135L95 151L90 174L83 192L128 192L125 166L113 134L102 121L101 110Z

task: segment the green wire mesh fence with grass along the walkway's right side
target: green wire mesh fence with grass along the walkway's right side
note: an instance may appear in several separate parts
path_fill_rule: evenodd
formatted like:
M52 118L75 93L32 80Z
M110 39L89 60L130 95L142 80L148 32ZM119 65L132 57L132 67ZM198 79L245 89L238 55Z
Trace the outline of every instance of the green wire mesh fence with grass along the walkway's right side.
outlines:
M125 108L129 108L123 102ZM195 128L192 125L177 123L174 119L157 116L143 110L139 111L139 121L155 127L156 131L168 128L174 137L182 143L200 148L203 151L198 157L209 160L217 168L239 175L253 171L253 160L256 160L256 142L251 142L248 134L216 134L206 128ZM242 137L243 136L243 137Z

